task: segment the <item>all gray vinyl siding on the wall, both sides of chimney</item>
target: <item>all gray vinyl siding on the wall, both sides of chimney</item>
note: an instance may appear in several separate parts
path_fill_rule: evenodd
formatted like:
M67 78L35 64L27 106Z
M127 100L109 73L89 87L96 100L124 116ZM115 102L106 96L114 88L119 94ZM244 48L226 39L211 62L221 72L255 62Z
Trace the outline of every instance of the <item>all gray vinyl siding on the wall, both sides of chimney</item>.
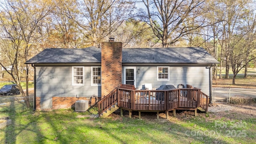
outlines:
M81 66L81 65L79 65ZM158 65L161 66L161 65ZM166 67L166 66L165 66ZM210 73L206 66L170 66L169 80L157 80L157 66L136 66L136 88L144 89L144 84L151 83L158 88L162 84L190 84L202 89L210 96ZM123 70L124 72L124 66ZM124 74L122 74L124 83ZM91 86L91 66L84 66L84 86L72 86L72 65L36 66L37 97L90 97L101 96L101 86Z

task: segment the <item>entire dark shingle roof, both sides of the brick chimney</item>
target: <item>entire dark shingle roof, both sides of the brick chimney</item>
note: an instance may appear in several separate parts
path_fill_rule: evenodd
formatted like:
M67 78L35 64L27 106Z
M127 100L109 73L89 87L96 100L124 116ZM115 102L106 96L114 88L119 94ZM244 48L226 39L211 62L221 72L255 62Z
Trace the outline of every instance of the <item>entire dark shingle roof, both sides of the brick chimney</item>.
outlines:
M100 63L101 49L48 48L26 61L26 64ZM124 48L122 63L204 63L218 61L203 48Z

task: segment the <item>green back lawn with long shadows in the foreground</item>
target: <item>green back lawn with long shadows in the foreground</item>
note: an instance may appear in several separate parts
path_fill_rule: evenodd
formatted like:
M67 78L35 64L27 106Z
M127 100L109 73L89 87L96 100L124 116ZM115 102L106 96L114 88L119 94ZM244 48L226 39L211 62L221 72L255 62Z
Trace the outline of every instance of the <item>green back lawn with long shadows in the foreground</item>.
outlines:
M157 120L154 113L142 112L142 119L146 115L151 119L120 114L90 119L76 118L88 112L72 109L34 112L19 104L10 106L0 106L0 117L12 119L10 126L0 129L1 144L249 144L256 139L255 118L218 118L211 113L173 117L170 113L168 120Z

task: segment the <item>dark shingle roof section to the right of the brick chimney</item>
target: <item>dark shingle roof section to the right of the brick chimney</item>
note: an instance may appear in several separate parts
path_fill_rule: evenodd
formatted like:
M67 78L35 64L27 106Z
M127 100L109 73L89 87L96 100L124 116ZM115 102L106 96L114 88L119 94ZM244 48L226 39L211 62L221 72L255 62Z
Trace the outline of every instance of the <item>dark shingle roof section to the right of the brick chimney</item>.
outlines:
M218 63L203 48L123 49L123 63Z

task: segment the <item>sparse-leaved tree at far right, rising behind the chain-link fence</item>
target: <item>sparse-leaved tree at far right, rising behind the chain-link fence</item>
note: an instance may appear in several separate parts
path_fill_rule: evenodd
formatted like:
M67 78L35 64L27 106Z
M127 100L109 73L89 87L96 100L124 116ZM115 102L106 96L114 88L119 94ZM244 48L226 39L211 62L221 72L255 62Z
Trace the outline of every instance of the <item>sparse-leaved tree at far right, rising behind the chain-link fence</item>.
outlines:
M232 84L242 68L256 59L255 50L255 15L250 9L250 1L227 1L227 19L224 26L226 43L224 48L226 56L226 78L229 65L234 74ZM253 15L252 15L253 14Z

